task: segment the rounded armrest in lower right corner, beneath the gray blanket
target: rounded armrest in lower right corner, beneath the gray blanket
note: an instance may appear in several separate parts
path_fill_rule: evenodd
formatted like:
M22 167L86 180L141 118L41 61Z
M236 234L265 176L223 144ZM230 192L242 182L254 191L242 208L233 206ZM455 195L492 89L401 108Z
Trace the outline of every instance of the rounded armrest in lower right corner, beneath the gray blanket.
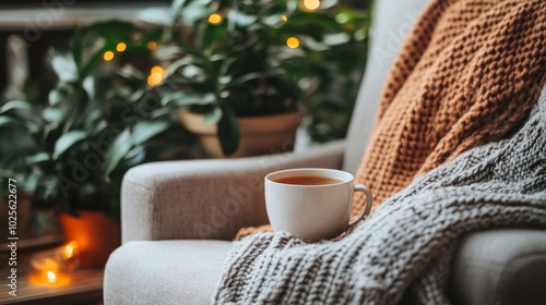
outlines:
M546 231L471 233L459 245L452 268L455 304L546 304Z

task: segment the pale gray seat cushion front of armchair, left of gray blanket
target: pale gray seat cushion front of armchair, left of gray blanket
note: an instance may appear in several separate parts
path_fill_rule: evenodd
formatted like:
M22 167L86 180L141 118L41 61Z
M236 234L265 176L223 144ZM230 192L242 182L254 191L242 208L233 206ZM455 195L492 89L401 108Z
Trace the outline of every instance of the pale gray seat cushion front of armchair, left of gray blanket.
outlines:
M232 243L136 241L110 255L105 304L210 304Z

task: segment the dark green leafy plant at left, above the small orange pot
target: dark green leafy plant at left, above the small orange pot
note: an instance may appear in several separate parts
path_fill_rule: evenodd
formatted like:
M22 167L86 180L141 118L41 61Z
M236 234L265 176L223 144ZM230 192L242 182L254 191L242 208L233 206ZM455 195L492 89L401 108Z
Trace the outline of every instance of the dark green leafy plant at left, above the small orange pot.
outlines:
M153 64L146 44L155 34L121 22L76 29L70 51L49 59L57 84L45 102L0 107L0 176L32 192L33 208L61 217L99 211L119 220L121 179L129 168L187 157L191 136L146 82ZM141 66L130 64L133 57ZM119 234L109 234L107 241L119 243Z

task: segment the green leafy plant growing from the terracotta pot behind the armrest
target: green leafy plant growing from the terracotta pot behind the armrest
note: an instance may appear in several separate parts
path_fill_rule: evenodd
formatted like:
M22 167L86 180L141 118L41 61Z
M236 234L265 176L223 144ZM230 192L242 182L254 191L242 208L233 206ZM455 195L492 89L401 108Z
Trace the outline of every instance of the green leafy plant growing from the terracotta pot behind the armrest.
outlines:
M166 66L163 103L203 114L225 155L238 148L240 118L332 108L351 113L369 15L335 4L311 10L294 0L175 1L171 15L155 15L164 26L156 52ZM335 90L344 100L335 101ZM327 141L344 136L346 122L321 138L314 115L310 130Z

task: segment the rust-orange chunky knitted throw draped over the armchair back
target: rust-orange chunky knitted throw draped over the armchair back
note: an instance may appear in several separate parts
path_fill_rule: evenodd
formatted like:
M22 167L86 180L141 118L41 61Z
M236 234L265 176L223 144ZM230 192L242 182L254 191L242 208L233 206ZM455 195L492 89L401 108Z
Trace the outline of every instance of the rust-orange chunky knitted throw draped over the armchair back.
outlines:
M546 1L434 0L383 88L357 182L375 208L461 152L513 133L546 81ZM355 197L355 213L364 198Z

